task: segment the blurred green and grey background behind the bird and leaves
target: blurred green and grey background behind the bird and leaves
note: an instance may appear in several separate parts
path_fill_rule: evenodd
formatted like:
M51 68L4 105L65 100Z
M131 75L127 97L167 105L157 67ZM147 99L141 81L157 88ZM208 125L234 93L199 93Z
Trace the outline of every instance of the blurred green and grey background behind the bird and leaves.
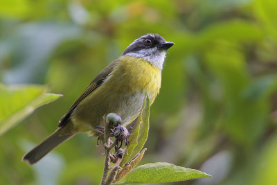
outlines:
M1 0L0 79L63 98L0 137L0 184L98 184L96 138L78 134L35 166L21 157L53 132L82 90L134 39L168 51L141 164L211 178L175 184L277 184L276 0Z

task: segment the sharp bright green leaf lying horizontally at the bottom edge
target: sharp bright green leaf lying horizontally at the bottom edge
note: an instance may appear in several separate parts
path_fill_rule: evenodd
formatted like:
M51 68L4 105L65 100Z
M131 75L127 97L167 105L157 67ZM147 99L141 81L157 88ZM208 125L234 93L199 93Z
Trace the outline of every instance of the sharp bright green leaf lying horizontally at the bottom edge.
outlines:
M127 175L126 182L130 184L179 182L202 177L211 177L211 175L174 164L153 163L144 164L132 170Z

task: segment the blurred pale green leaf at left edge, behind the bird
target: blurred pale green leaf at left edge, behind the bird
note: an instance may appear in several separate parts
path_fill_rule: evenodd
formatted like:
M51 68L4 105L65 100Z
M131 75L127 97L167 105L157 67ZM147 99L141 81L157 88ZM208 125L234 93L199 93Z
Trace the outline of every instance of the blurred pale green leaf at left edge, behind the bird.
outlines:
M47 94L46 87L39 85L0 84L0 136L30 115L37 107L62 96Z

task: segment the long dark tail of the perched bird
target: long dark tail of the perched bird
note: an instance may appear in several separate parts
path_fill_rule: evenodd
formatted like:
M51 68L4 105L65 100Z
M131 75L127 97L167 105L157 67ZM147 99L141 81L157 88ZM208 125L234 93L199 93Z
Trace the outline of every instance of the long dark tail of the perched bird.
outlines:
M26 153L26 155L22 158L22 161L28 161L30 165L35 164L37 161L42 159L42 157L47 155L48 152L51 152L51 150L71 138L71 136L74 136L74 134L59 136L61 130L62 127L58 128L55 132L53 132L53 134L44 139L42 143L39 143L39 145L33 148L33 150Z

